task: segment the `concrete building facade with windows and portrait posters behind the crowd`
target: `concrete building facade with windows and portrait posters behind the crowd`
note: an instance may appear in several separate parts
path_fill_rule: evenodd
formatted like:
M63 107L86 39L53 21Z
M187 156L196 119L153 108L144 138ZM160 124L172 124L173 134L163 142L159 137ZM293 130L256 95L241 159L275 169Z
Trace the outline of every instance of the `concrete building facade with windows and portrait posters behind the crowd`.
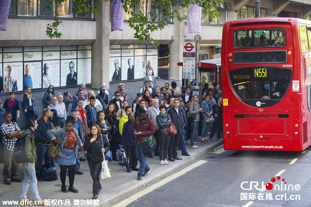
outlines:
M92 0L86 0L91 4ZM193 42L195 34L187 33L186 22L170 19L163 31L152 33L160 43L154 47L133 38L128 18L124 16L123 31L110 32L110 1L99 5L99 13L76 14L72 0L54 3L52 11L44 9L45 0L11 0L7 31L0 31L1 93L22 91L32 78L32 88L42 90L50 84L55 87L91 83L99 88L109 82L142 79L147 68L155 76L182 80L183 42ZM220 57L222 27L225 21L255 16L254 0L224 0L224 8L215 7L218 17L202 11L200 59ZM144 8L150 11L151 1L141 0L133 12ZM181 14L187 8L173 6ZM46 33L54 12L62 24L60 39L50 39ZM310 18L311 2L306 0L261 0L260 17L288 16ZM160 15L159 15L159 18ZM11 70L10 70L11 68ZM9 73L9 74L8 74ZM8 87L6 77L17 80L17 88ZM1 84L1 83L0 83ZM0 87L1 88L1 87Z

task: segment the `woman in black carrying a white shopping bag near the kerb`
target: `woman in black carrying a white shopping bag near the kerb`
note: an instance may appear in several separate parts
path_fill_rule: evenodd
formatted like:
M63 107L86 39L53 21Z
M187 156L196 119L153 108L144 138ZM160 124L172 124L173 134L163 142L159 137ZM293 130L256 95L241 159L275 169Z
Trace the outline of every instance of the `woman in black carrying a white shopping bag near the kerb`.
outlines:
M100 183L102 162L105 161L104 153L108 152L110 146L108 140L101 135L101 128L97 124L92 125L91 133L86 136L83 145L84 150L87 151L86 159L88 161L89 171L93 179L93 199L97 199L98 193L102 189ZM104 170L109 173L108 167Z

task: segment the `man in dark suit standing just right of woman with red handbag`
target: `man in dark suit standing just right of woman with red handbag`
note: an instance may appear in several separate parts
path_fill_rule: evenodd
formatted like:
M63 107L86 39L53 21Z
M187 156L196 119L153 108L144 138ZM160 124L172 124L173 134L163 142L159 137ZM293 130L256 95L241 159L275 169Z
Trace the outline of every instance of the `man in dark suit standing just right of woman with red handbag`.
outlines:
M170 107L167 110L167 113L170 114L171 119L172 119L172 124L176 127L177 133L176 135L172 136L169 148L168 148L168 157L170 161L175 161L175 159L182 159L178 157L177 154L177 147L179 143L179 137L182 132L182 119L183 119L183 112L181 109L178 107L179 106L179 99L174 98L173 100L173 107Z

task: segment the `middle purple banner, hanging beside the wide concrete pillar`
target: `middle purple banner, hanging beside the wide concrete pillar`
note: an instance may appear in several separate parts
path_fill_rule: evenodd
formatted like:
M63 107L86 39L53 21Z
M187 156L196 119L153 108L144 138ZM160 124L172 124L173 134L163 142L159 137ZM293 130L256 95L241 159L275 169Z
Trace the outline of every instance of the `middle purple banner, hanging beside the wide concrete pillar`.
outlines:
M114 0L111 3L111 32L123 30L124 9L121 0Z

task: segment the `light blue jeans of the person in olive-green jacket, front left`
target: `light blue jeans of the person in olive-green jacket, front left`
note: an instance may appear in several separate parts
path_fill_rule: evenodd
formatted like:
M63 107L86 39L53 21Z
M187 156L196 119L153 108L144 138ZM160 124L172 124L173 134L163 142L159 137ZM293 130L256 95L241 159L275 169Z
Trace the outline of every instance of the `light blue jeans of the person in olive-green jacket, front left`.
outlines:
M24 166L24 181L23 181L23 189L20 195L20 200L27 199L27 190L30 185L31 191L33 191L35 201L40 201L41 198L37 188L37 178L35 176L35 163L26 162L23 163L23 166Z

